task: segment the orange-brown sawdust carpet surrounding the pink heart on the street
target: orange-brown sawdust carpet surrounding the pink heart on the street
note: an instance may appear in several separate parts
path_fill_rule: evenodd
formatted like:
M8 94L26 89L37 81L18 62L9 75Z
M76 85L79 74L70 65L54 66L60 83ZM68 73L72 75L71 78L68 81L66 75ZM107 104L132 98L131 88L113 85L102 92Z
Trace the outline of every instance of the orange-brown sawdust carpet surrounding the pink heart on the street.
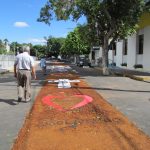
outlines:
M66 76L62 74L59 78ZM56 74L48 78L55 77ZM71 77L75 78L74 75ZM70 89L58 89L55 84L43 86L12 150L148 150L150 148L150 138L84 81L71 84L73 88ZM86 94L93 98L93 102L67 112L60 112L42 103L44 96L52 93L57 95L59 92L64 92L66 95Z

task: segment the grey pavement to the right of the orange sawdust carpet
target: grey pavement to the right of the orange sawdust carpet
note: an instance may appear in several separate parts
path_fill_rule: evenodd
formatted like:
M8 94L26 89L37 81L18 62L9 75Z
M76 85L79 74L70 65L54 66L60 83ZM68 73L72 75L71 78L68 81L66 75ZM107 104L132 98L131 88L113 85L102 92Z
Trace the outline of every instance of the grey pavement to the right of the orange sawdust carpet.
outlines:
M150 136L150 82L123 76L102 76L98 68L72 67L105 100Z

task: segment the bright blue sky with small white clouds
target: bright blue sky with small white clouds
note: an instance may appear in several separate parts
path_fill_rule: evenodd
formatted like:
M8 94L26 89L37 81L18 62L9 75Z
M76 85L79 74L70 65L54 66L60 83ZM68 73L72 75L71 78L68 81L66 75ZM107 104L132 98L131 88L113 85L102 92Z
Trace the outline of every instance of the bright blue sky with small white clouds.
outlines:
M0 5L0 39L8 39L9 43L44 44L44 37L66 37L78 22L56 21L51 25L37 22L40 9L47 0L1 0Z

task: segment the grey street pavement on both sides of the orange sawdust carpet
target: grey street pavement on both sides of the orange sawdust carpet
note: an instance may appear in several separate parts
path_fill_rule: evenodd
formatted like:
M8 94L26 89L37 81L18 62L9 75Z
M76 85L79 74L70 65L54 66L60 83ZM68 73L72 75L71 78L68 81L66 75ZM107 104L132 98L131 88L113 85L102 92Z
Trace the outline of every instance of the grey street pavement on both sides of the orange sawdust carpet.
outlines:
M150 136L149 83L127 77L102 76L100 70L96 68L80 68L75 65L71 67L113 107ZM9 150L21 129L46 78L39 68L37 76L38 80L32 81L32 102L17 104L17 86L13 73L0 75L0 150Z

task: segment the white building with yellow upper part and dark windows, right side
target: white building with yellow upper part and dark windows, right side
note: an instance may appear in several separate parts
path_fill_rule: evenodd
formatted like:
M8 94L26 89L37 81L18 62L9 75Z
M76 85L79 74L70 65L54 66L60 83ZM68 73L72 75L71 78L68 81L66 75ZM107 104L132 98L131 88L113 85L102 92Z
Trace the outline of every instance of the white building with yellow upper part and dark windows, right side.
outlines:
M142 67L150 71L150 13L143 14L139 26L136 34L116 42L114 50L109 50L109 64L115 63L118 67L126 66L128 69ZM102 57L101 51L94 50L90 54L95 65L98 65L98 58Z

